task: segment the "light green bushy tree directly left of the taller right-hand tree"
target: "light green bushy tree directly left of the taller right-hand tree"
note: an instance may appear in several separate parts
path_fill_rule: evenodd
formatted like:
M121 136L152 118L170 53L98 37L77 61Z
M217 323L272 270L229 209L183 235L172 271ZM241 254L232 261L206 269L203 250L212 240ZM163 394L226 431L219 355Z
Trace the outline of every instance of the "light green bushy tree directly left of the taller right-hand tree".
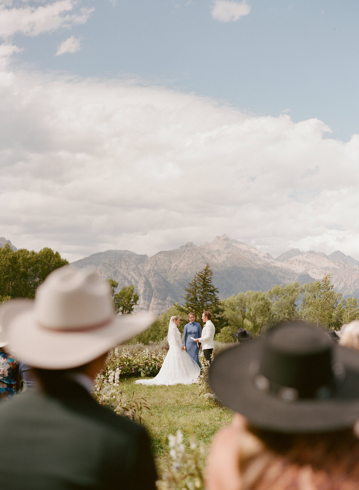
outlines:
M280 323L291 321L297 317L297 301L300 297L299 282L292 282L284 286L273 286L267 291L267 297L272 302L272 321Z

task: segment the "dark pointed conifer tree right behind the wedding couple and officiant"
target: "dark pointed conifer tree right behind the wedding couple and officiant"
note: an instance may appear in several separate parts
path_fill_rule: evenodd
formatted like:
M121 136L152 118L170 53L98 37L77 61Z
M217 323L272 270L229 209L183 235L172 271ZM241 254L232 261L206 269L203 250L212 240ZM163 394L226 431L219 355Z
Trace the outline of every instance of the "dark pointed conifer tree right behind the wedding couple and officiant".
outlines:
M183 314L192 311L197 321L202 318L202 313L206 310L212 314L216 331L218 332L226 320L223 316L223 306L218 298L218 289L212 284L213 272L209 266L194 275L188 287L185 288L185 304L180 307Z

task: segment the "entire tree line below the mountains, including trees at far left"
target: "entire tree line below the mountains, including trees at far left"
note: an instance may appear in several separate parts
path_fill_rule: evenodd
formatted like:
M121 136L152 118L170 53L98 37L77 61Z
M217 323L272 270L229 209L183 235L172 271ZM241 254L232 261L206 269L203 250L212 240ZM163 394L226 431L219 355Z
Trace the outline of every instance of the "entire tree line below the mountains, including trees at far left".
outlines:
M0 248L0 302L10 298L33 298L36 288L47 275L69 264L58 252L43 248L39 252L12 250L10 245ZM233 334L242 327L253 336L260 335L268 327L288 320L304 320L334 330L343 323L359 319L359 304L356 297L344 298L336 293L330 283L330 274L321 281L300 285L299 282L276 285L267 292L247 291L219 299L219 291L212 283L210 266L197 272L185 288L183 304L175 303L157 317L152 326L136 337L136 341L158 342L167 335L171 316L179 315L181 325L188 322L188 312L193 312L200 321L203 311L210 310L215 323L216 340L231 342ZM139 294L133 284L120 291L118 282L108 280L114 300L115 311L122 315L132 313L138 304Z

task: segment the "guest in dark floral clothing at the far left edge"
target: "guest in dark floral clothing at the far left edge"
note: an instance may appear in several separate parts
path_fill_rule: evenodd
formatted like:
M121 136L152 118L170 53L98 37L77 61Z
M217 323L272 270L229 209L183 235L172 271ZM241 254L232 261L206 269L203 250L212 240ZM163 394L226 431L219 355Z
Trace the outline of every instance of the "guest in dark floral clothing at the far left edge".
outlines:
M19 362L5 349L7 344L0 327L0 400L14 395L19 388Z

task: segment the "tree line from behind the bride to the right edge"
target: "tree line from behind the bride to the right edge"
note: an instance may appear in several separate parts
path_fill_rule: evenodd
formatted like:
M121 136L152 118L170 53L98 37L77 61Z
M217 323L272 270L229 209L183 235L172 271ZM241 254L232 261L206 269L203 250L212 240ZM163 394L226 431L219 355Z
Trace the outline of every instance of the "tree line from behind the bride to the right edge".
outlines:
M331 276L300 285L299 282L276 285L266 292L247 291L219 300L219 291L212 284L210 266L194 275L185 288L182 305L173 304L136 341L158 342L167 335L171 316L179 315L181 325L188 322L188 312L200 321L202 312L210 310L215 323L215 340L233 342L238 328L261 335L267 328L284 321L307 321L317 326L339 330L343 323L359 319L356 297L344 298L336 293Z

